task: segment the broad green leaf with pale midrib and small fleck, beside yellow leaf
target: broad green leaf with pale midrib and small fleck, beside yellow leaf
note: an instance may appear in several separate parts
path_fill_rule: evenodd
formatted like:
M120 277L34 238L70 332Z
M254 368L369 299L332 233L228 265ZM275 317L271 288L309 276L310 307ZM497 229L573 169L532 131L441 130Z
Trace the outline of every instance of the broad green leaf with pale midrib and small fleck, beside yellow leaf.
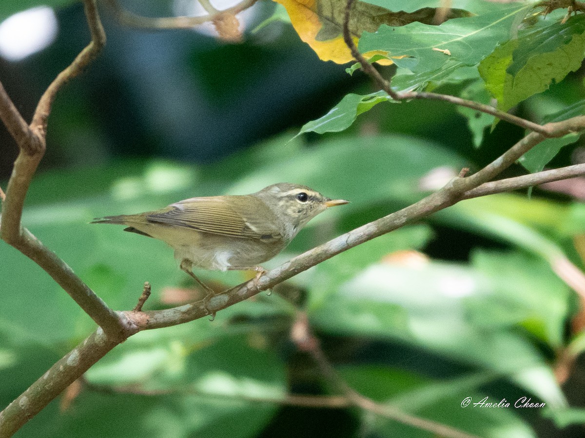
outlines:
M475 65L493 51L498 43L510 39L514 26L530 7L518 4L503 6L495 12L451 19L440 26L418 22L401 27L382 25L376 33L363 33L359 50L381 50L393 58L407 56L393 61L398 67L408 68L412 72L435 71L449 59ZM450 55L433 48L449 50Z

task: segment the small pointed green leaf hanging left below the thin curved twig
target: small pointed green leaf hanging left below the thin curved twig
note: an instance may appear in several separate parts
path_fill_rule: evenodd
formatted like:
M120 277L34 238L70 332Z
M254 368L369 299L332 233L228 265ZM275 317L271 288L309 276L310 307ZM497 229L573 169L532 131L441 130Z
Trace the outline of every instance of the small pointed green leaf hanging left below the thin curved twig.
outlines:
M390 96L381 90L365 96L350 93L341 99L341 102L334 106L325 116L305 123L297 135L308 132L324 134L343 131L352 126L356 117L363 112L370 110L380 102L391 100Z

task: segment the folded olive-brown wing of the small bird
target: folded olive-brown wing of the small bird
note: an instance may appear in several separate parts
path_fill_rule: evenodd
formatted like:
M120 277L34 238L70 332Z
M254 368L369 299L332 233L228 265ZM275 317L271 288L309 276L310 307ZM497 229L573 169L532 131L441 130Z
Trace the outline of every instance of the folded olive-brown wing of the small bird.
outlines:
M146 215L150 223L176 225L197 231L221 234L230 237L257 239L274 242L282 239L274 226L274 214L260 200L253 196L238 196L243 204L236 212L226 203L225 196L209 196L185 199L171 204L163 210ZM259 217L258 211L265 216ZM269 215L269 217L266 217ZM250 219L255 218L255 219Z

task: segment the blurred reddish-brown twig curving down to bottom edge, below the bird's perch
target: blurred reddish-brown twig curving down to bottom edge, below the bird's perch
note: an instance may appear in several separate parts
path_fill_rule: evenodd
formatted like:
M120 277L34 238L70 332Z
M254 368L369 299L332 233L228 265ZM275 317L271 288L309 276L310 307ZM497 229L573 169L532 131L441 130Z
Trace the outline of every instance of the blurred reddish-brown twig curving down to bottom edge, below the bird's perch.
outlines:
M364 397L350 387L339 373L333 368L333 365L325 353L321 349L319 340L311 331L309 326L307 314L305 312L297 312L297 320L293 325L293 331L291 333L292 341L298 346L301 351L307 352L311 355L312 359L319 366L319 369L326 377L327 381L335 384L338 389L343 392L345 397L349 399L352 405L362 408L366 411L376 413L377 415L385 418L393 419L399 423L417 427L418 429L428 430L438 436L445 436L450 438L473 438L473 435L461 432L460 430L454 429L453 427L443 425L441 423L427 420L407 412L400 411L400 409L394 408L389 405L382 405L370 398Z

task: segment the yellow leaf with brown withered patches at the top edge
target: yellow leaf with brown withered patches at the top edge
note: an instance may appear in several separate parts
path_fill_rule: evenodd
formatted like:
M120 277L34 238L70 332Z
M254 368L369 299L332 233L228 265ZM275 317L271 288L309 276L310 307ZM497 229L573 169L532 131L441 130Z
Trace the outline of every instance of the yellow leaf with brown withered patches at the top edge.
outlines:
M352 54L343 41L343 16L345 0L274 0L283 5L291 19L292 26L302 41L309 44L323 61L345 64L353 61ZM349 30L353 41L357 41L364 30L376 32L382 24L388 26L404 26L418 21L432 24L436 8L422 8L407 13L392 12L380 6L363 2L355 2L350 16ZM450 9L446 19L470 16L471 13L462 9ZM364 53L366 58L373 55L386 55L383 51ZM392 64L391 60L379 60L379 64Z

